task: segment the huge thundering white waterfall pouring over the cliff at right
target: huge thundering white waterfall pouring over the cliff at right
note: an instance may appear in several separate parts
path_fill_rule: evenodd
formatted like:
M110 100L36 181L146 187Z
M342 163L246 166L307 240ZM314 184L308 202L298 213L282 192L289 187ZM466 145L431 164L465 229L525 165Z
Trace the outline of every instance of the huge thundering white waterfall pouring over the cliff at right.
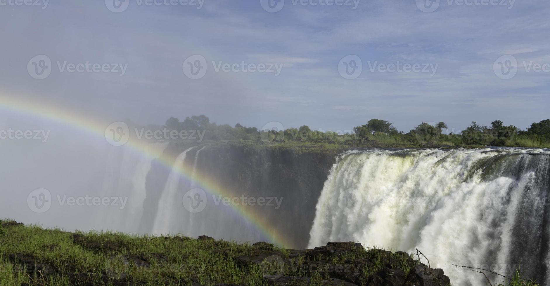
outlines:
M549 162L540 149L349 152L324 184L310 247L419 249L454 285L486 281L453 264L511 276L521 262L550 285Z

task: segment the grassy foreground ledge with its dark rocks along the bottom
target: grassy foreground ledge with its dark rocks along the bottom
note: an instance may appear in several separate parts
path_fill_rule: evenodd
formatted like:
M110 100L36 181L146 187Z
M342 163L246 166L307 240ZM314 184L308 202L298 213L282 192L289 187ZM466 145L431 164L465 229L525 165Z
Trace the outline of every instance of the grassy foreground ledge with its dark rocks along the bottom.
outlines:
M5 222L0 223L2 286L196 286L218 283L252 286L268 285L267 275L309 279L295 281L293 285L344 285L343 280L335 278L361 285L367 282L378 285L370 282L384 279L380 278L381 273L386 273L383 275L387 279L391 275L388 271L411 279L413 272L422 267L412 254L365 249L355 243L306 251L282 249L268 243L238 244L208 237L70 233L14 223L2 227ZM519 279L519 273L516 276L515 282L505 285L536 285Z

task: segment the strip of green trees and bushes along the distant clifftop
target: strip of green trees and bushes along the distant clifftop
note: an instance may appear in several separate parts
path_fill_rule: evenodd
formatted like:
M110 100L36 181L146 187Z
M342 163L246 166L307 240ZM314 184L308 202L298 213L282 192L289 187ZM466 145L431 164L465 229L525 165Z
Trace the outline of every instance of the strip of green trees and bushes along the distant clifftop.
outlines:
M491 126L480 126L472 122L465 130L456 131L444 122L422 122L409 132L398 131L391 122L380 119L369 120L366 124L353 128L353 131L317 131L309 126L284 128L278 122L271 122L260 130L256 127L217 125L208 117L191 116L180 122L171 117L163 126L147 126L150 130L177 132L198 132L200 141L226 142L247 141L254 144L295 144L305 148L305 144L323 143L314 148L340 149L353 147L380 148L425 148L425 147L464 147L480 148L486 145L499 147L550 148L550 119L533 122L527 130L514 125L504 125L495 120ZM195 134L195 133L193 133ZM199 142L200 143L200 142Z

